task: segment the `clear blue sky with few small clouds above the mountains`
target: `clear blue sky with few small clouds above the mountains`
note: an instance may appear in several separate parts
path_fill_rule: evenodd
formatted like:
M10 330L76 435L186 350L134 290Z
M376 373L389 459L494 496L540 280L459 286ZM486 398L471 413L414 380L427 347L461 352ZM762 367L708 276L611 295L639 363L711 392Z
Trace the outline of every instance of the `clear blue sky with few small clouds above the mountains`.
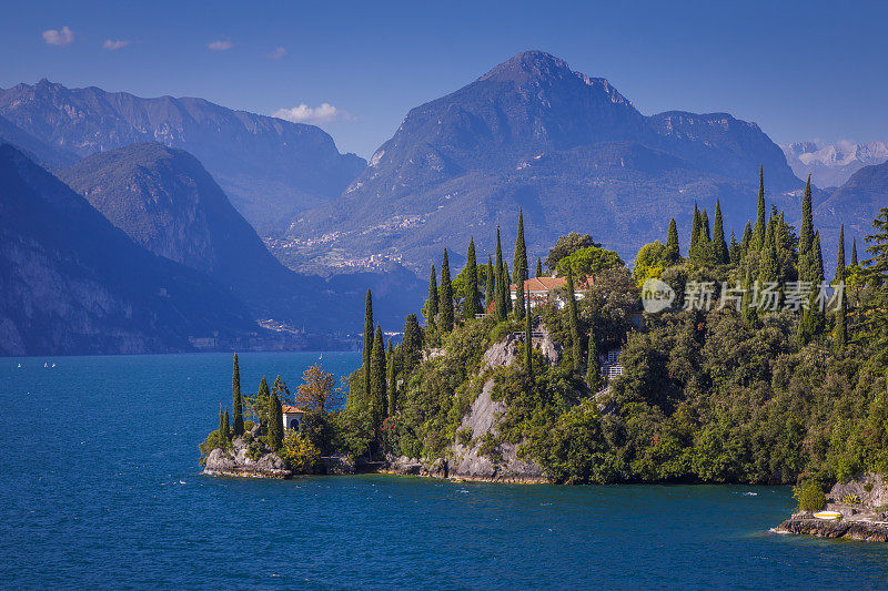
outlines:
M607 78L645 114L727 111L778 143L888 140L886 2L32 1L2 13L2 88L46 77L296 108L363 156L411 108L526 49Z

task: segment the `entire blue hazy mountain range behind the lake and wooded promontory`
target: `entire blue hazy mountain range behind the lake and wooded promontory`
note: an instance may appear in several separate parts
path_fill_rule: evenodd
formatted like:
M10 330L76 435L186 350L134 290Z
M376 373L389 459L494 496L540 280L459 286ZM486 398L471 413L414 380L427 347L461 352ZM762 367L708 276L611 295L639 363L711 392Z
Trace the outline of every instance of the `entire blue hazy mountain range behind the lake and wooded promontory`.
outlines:
M531 257L576 231L632 261L670 216L687 244L695 202L713 215L719 198L739 236L759 167L796 225L804 186L755 123L644 115L538 51L411 110L366 166L311 125L46 80L0 90L4 142L7 355L244 348L303 328L302 346L342 346L367 288L383 327L401 326L442 248L457 269L470 237L485 258L502 225L511 251L518 207ZM888 203L888 164L814 196L829 263L840 224L860 242Z

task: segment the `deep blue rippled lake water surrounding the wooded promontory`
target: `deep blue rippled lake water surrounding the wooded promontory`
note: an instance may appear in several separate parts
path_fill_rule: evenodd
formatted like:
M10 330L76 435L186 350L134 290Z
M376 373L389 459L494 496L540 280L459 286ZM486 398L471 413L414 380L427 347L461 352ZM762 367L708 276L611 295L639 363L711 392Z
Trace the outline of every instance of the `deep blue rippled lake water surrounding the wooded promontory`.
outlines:
M317 357L244 354L243 388ZM229 355L0 358L0 584L888 589L888 544L769 533L785 487L201 476L230 388Z

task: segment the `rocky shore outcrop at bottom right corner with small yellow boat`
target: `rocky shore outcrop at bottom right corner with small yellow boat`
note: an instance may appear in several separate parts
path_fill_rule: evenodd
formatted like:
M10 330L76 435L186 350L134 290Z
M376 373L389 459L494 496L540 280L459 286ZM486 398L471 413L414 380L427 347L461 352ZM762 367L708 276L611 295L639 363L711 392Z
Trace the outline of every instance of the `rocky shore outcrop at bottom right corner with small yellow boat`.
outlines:
M827 495L825 511L838 511L841 519L817 519L803 511L775 528L784 533L819 538L845 538L888 542L888 483L880 475L867 473L839 482Z

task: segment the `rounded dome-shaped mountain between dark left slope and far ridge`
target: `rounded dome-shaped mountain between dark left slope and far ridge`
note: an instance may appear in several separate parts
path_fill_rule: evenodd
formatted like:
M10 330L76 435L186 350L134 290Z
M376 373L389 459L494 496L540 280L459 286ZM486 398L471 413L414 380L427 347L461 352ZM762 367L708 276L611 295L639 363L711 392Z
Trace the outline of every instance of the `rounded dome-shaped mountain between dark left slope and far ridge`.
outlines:
M393 292L379 307L387 328L418 305L422 286L392 276L305 276L283 266L201 163L183 150L152 142L88 156L60 177L111 223L151 252L211 275L255 318L274 318L317 333L359 330L367 287ZM406 277L405 277L406 276ZM392 279L400 277L397 285ZM397 306L397 307L396 307ZM342 309L347 307L347 309Z

